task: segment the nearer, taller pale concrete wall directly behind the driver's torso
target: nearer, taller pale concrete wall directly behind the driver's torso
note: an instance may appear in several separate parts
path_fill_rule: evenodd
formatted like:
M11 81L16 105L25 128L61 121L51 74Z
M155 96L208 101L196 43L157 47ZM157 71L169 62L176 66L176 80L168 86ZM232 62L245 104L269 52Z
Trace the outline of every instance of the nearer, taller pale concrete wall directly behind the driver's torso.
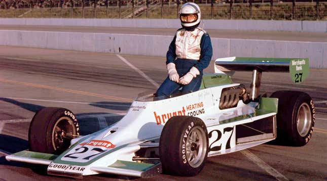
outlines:
M147 56L166 56L172 36L0 30L0 45ZM327 68L327 42L212 38L213 59L222 57L309 58Z

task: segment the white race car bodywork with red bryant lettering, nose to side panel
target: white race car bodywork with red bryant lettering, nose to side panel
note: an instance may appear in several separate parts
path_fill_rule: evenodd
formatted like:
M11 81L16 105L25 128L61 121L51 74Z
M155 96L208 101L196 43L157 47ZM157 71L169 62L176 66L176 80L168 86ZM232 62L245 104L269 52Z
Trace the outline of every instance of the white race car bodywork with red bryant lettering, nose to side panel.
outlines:
M146 141L158 140L164 124L170 117L175 115L196 116L203 120L207 126L208 133L212 132L211 137L209 138L209 149L221 145L221 149L219 151L210 151L208 156L230 153L240 149L252 147L254 146L253 144L247 144L247 146L245 144L243 147L239 147L238 149L235 148L235 125L261 119L260 116L246 118L237 122L224 124L220 123L220 121L223 120L255 112L255 108L243 104L242 101L239 101L237 107L235 108L225 110L219 109L222 89L237 85L239 84L227 84L206 88L195 93L160 101L134 101L128 113L119 122L91 136L72 140L73 143L78 140L80 140L80 142L67 153L62 154L64 156L62 156L60 159L57 158L54 160L54 163L50 165L82 164L82 166L80 166L84 168L82 171L80 171L81 168L75 168L78 170L71 171L88 175L104 172L108 165L115 163L117 160L132 161L132 157L135 156L135 152L140 149L139 144ZM149 97L151 96L149 95ZM148 98L145 97L144 99ZM275 114L276 113L270 113L264 115L263 117L268 117ZM227 127L230 129L228 131L224 131L224 129ZM218 138L219 132L222 133L221 138ZM82 139L85 140L81 142ZM228 140L230 140L228 146L229 148L226 148ZM258 143L255 145L258 145ZM121 148L110 154L106 154L107 151L114 150L115 148L119 147ZM102 154L105 156L92 161L92 159L96 158L97 156L101 156ZM96 156L90 157L90 155ZM85 159L88 157L90 158ZM85 164L87 162L89 163ZM67 171L66 167L64 167L64 169ZM58 166L56 168L49 166L48 170L63 171L63 169L58 168ZM110 173L110 171L108 171L108 173Z

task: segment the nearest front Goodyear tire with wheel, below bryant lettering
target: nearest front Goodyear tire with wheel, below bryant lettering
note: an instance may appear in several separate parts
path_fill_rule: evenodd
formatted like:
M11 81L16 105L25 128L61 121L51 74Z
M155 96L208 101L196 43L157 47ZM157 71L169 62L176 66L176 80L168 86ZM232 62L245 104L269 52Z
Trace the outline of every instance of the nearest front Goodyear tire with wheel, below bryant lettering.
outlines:
M202 143L193 142L191 135ZM197 175L206 162L208 144L208 131L201 119L191 116L170 118L161 132L159 143L163 172L183 176ZM190 156L192 153L187 150L192 150L196 155Z

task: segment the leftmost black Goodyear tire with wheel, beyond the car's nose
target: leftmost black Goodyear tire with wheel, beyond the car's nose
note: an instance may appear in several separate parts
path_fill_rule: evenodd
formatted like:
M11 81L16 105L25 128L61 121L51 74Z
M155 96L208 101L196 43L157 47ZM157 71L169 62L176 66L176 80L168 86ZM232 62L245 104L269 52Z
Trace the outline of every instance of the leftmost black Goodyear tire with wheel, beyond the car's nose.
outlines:
M79 124L70 110L44 108L34 115L29 125L29 150L60 154L70 146L70 140L77 135Z

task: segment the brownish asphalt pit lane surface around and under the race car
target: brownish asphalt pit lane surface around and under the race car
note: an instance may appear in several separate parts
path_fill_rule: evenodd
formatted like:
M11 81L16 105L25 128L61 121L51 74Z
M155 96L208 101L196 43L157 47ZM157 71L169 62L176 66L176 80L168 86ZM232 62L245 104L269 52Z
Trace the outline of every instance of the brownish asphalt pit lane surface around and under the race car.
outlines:
M121 55L160 84L166 77L165 58ZM213 61L205 72L213 72ZM316 106L315 130L304 147L264 144L246 152L209 157L194 177L159 174L137 180L325 180L327 179L327 70L311 69L299 85L287 73L263 73L261 92L289 89L308 93ZM249 85L251 73L236 72L235 82ZM29 121L43 107L65 107L78 117L84 134L118 121L138 93L156 86L114 54L0 47L0 179L71 180L35 172L31 165L8 162L5 155L28 148ZM259 158L259 160L258 160ZM266 165L260 165L263 161ZM259 164L258 164L259 163ZM270 166L270 167L269 167ZM275 169L282 176L271 174ZM90 175L85 180L134 179Z

